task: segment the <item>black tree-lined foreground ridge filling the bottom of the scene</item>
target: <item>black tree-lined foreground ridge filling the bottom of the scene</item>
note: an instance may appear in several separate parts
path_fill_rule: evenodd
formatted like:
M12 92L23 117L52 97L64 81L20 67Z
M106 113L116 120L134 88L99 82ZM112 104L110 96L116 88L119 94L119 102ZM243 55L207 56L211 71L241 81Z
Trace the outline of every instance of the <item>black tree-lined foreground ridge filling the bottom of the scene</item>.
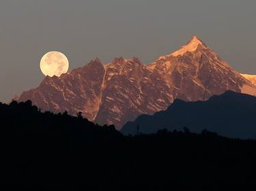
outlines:
M256 141L187 128L125 137L81 115L42 114L29 101L0 104L0 120L4 190L256 188Z

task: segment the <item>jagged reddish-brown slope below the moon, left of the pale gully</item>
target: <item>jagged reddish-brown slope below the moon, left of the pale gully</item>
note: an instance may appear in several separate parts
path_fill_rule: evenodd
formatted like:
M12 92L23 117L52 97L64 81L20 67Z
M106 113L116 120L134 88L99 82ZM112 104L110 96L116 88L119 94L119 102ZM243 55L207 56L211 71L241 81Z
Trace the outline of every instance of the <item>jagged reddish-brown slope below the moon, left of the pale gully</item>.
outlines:
M60 77L45 77L38 88L23 92L18 101L30 99L43 111L64 112L76 115L83 112L93 121L98 113L104 67L100 60L74 69Z

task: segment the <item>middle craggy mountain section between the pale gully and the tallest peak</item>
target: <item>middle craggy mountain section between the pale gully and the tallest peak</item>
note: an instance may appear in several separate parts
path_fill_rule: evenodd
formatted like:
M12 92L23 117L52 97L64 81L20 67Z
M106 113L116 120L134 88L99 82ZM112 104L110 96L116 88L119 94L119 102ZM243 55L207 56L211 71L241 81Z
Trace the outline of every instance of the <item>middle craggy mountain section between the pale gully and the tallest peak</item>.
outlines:
M115 58L104 69L102 101L96 122L120 127L139 114L154 114L171 104L172 97L167 95L171 94L169 86L137 58Z

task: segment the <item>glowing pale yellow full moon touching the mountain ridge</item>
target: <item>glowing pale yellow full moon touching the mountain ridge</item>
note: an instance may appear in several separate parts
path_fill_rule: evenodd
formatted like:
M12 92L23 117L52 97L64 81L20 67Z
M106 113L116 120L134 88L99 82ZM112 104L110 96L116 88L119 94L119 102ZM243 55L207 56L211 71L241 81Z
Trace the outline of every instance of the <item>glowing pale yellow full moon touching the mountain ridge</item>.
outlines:
M68 58L61 52L51 51L42 56L40 61L40 69L44 75L53 77L60 76L68 71Z

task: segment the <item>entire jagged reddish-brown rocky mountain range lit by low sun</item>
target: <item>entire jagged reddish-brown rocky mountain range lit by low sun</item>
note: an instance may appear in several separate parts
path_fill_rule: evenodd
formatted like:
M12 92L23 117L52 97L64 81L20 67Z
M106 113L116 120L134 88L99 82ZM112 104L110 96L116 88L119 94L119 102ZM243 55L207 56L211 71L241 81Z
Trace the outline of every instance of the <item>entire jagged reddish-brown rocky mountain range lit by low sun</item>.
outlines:
M30 99L43 111L72 115L81 111L91 121L120 129L140 114L167 109L173 99L206 100L226 90L256 94L249 80L193 37L180 50L150 65L122 57L102 65L96 58L70 74L46 77L38 88L16 100Z

